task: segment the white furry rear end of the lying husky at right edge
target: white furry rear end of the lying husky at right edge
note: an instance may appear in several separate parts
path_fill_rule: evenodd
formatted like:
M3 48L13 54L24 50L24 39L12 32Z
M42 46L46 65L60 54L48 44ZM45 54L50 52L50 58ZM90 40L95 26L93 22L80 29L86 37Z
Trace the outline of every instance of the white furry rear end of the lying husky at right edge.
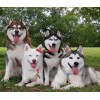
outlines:
M95 71L93 68L89 68L89 74L91 76L92 82L100 85L100 72Z

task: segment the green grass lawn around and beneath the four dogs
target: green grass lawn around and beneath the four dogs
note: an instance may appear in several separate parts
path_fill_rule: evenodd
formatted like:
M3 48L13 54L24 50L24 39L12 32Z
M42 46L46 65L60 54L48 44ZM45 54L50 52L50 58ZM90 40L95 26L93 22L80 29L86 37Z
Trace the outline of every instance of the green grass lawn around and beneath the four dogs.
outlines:
M6 48L0 48L0 80L4 76L5 69L5 52ZM85 62L96 70L100 70L100 48L84 48ZM60 92L59 90L52 90L51 87L37 85L32 88L27 87L16 87L15 84L20 82L21 77L13 77L7 83L0 82L0 91L10 91L10 92ZM95 92L100 91L100 86L97 84L92 84L84 88L71 88L69 90L64 90L62 92Z

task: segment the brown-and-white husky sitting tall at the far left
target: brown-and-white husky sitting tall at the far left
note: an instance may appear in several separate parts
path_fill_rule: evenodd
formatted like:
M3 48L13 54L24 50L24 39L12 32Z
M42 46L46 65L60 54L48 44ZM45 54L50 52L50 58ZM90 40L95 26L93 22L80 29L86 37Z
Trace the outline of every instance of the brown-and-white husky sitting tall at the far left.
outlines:
M22 21L9 22L7 26L7 57L5 76L2 81L8 81L11 76L21 74L21 62L23 58L24 45L31 46L31 40L26 26Z

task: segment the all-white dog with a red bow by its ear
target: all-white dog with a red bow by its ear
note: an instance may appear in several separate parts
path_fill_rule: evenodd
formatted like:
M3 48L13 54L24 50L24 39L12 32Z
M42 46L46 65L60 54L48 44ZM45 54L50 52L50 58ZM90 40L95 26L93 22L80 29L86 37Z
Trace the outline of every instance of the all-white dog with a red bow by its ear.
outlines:
M29 83L31 81L31 83ZM26 84L28 83L28 84ZM28 44L24 47L22 60L22 81L16 86L32 87L35 84L43 84L43 52L42 45L31 49Z

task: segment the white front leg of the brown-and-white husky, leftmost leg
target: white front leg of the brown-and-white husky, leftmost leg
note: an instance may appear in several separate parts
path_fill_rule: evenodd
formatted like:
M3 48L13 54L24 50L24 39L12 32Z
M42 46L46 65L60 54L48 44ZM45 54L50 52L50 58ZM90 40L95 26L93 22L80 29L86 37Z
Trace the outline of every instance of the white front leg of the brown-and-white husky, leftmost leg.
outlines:
M9 59L8 64L6 64L5 76L1 81L7 82L9 80L9 78L11 76L10 73L12 70L12 66L13 66L13 62L11 59Z

